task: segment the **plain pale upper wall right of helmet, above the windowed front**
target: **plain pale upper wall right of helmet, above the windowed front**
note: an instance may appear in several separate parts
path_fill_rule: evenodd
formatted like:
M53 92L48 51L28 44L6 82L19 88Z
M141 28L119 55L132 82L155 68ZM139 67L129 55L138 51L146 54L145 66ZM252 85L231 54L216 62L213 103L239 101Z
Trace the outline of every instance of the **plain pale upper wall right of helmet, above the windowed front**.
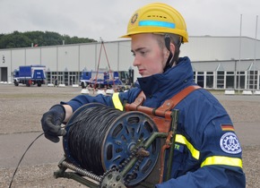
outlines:
M247 37L190 37L181 46L181 56L192 61L221 61L260 58L260 40Z

